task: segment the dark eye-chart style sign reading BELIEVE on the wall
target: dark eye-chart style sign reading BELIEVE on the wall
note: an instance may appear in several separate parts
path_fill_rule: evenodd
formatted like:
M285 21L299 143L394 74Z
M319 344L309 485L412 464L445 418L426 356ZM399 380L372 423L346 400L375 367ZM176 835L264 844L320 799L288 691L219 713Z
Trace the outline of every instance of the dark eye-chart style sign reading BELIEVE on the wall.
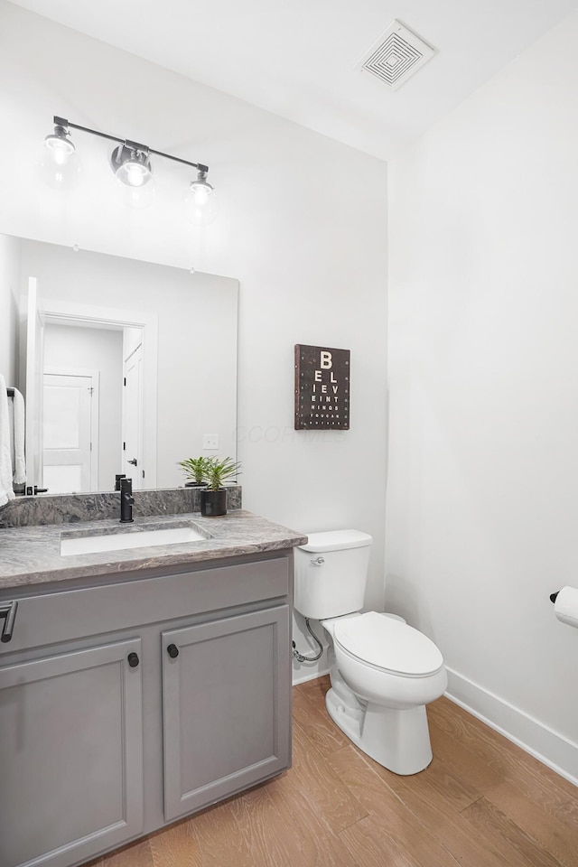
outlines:
M295 430L350 429L350 350L295 344Z

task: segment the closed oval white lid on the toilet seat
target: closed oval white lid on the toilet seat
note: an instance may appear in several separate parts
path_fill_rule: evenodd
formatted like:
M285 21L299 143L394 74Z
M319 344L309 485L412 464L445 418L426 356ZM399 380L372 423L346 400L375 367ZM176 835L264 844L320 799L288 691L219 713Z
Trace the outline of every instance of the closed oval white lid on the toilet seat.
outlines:
M334 639L354 657L398 675L433 675L443 656L423 632L368 611L335 623Z

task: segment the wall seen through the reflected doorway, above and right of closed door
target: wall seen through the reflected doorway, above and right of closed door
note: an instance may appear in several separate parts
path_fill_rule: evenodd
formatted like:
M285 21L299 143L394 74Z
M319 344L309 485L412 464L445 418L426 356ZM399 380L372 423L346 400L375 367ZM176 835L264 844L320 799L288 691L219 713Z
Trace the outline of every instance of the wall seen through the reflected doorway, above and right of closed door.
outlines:
M98 370L98 490L114 489L121 467L123 332L47 324L46 368Z

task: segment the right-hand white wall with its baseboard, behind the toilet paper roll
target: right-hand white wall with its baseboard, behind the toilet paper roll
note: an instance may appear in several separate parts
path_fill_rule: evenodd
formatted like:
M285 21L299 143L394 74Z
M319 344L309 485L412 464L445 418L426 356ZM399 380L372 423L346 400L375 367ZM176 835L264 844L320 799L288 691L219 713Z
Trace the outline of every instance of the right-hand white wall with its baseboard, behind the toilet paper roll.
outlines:
M387 602L578 778L578 14L390 163Z

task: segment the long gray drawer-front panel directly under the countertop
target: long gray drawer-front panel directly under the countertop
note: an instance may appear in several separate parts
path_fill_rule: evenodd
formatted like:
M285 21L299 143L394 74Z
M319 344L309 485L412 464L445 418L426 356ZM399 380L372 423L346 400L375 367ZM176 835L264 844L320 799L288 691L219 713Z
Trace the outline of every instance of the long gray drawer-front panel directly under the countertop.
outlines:
M99 586L14 595L12 639L0 644L0 660L16 650L286 597L290 563L279 556L118 583L103 575Z

